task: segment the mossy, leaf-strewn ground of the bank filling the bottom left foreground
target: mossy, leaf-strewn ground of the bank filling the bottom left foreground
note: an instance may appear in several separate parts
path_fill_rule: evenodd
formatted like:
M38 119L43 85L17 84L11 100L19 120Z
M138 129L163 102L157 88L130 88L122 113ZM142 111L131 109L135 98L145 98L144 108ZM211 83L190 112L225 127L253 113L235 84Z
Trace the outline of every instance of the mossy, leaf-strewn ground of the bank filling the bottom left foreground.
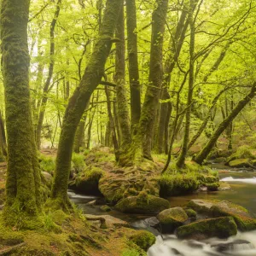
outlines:
M133 251L138 255L146 255L133 241L136 237L138 239L135 240L139 241L140 231L112 224L101 229L94 222L61 211L49 213L42 218L44 226L38 230L14 230L4 226L0 214L0 254L120 256ZM148 247L154 242L152 234L142 238L142 247Z

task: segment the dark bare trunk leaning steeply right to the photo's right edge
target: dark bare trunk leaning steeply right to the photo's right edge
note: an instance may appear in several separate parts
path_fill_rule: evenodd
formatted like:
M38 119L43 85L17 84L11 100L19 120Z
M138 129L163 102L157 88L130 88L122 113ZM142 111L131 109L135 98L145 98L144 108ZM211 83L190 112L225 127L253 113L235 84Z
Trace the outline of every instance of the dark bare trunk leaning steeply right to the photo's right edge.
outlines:
M208 141L207 145L201 150L199 154L195 157L195 162L202 164L202 162L207 159L208 154L210 154L213 146L217 143L218 137L228 128L230 123L236 118L236 116L241 112L241 110L253 99L256 95L256 83L253 84L251 91L245 96L234 108L230 114L218 125L218 128L212 134L212 137Z

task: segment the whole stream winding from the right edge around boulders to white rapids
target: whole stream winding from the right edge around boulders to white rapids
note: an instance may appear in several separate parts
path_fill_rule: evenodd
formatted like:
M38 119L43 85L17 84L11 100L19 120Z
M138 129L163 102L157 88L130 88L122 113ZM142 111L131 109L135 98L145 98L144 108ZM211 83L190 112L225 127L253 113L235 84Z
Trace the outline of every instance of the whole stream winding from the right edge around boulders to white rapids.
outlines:
M227 200L246 207L256 217L256 172L238 169L227 170L226 166L212 165L220 171L221 181L230 184L231 189L217 192L200 192L193 195L175 196L170 198L172 207L184 206L192 199ZM229 239L212 238L206 241L179 240L175 235L161 235L158 230L150 227L150 216L125 214L111 211L102 212L100 207L91 206L90 201L96 196L77 195L68 192L69 197L84 213L96 215L112 215L123 219L136 229L149 230L156 236L153 247L148 249L148 256L256 256L256 231L238 233Z

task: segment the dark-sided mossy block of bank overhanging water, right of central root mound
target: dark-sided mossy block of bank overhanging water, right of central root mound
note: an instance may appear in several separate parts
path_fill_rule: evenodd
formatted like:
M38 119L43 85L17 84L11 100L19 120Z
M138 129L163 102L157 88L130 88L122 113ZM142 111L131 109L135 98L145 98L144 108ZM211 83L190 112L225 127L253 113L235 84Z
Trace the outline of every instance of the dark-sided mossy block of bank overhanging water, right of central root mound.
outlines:
M159 178L160 196L186 195L195 192L199 181L195 175L163 175Z

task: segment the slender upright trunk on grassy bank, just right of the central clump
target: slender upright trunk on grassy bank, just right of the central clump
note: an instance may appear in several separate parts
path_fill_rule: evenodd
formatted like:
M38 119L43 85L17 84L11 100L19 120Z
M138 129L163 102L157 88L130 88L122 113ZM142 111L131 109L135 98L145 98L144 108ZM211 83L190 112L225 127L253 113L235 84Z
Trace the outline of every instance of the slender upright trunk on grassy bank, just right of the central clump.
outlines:
M195 55L195 22L193 18L193 9L195 6L195 0L190 0L189 6L189 26L190 26L190 45L189 45L189 91L188 91L188 102L186 110L186 122L185 122L185 131L183 137L183 146L181 154L179 154L177 159L177 168L182 168L185 164L185 158L188 151L189 143L189 129L190 129L190 115L191 107L193 101L193 87L194 87L194 55Z

